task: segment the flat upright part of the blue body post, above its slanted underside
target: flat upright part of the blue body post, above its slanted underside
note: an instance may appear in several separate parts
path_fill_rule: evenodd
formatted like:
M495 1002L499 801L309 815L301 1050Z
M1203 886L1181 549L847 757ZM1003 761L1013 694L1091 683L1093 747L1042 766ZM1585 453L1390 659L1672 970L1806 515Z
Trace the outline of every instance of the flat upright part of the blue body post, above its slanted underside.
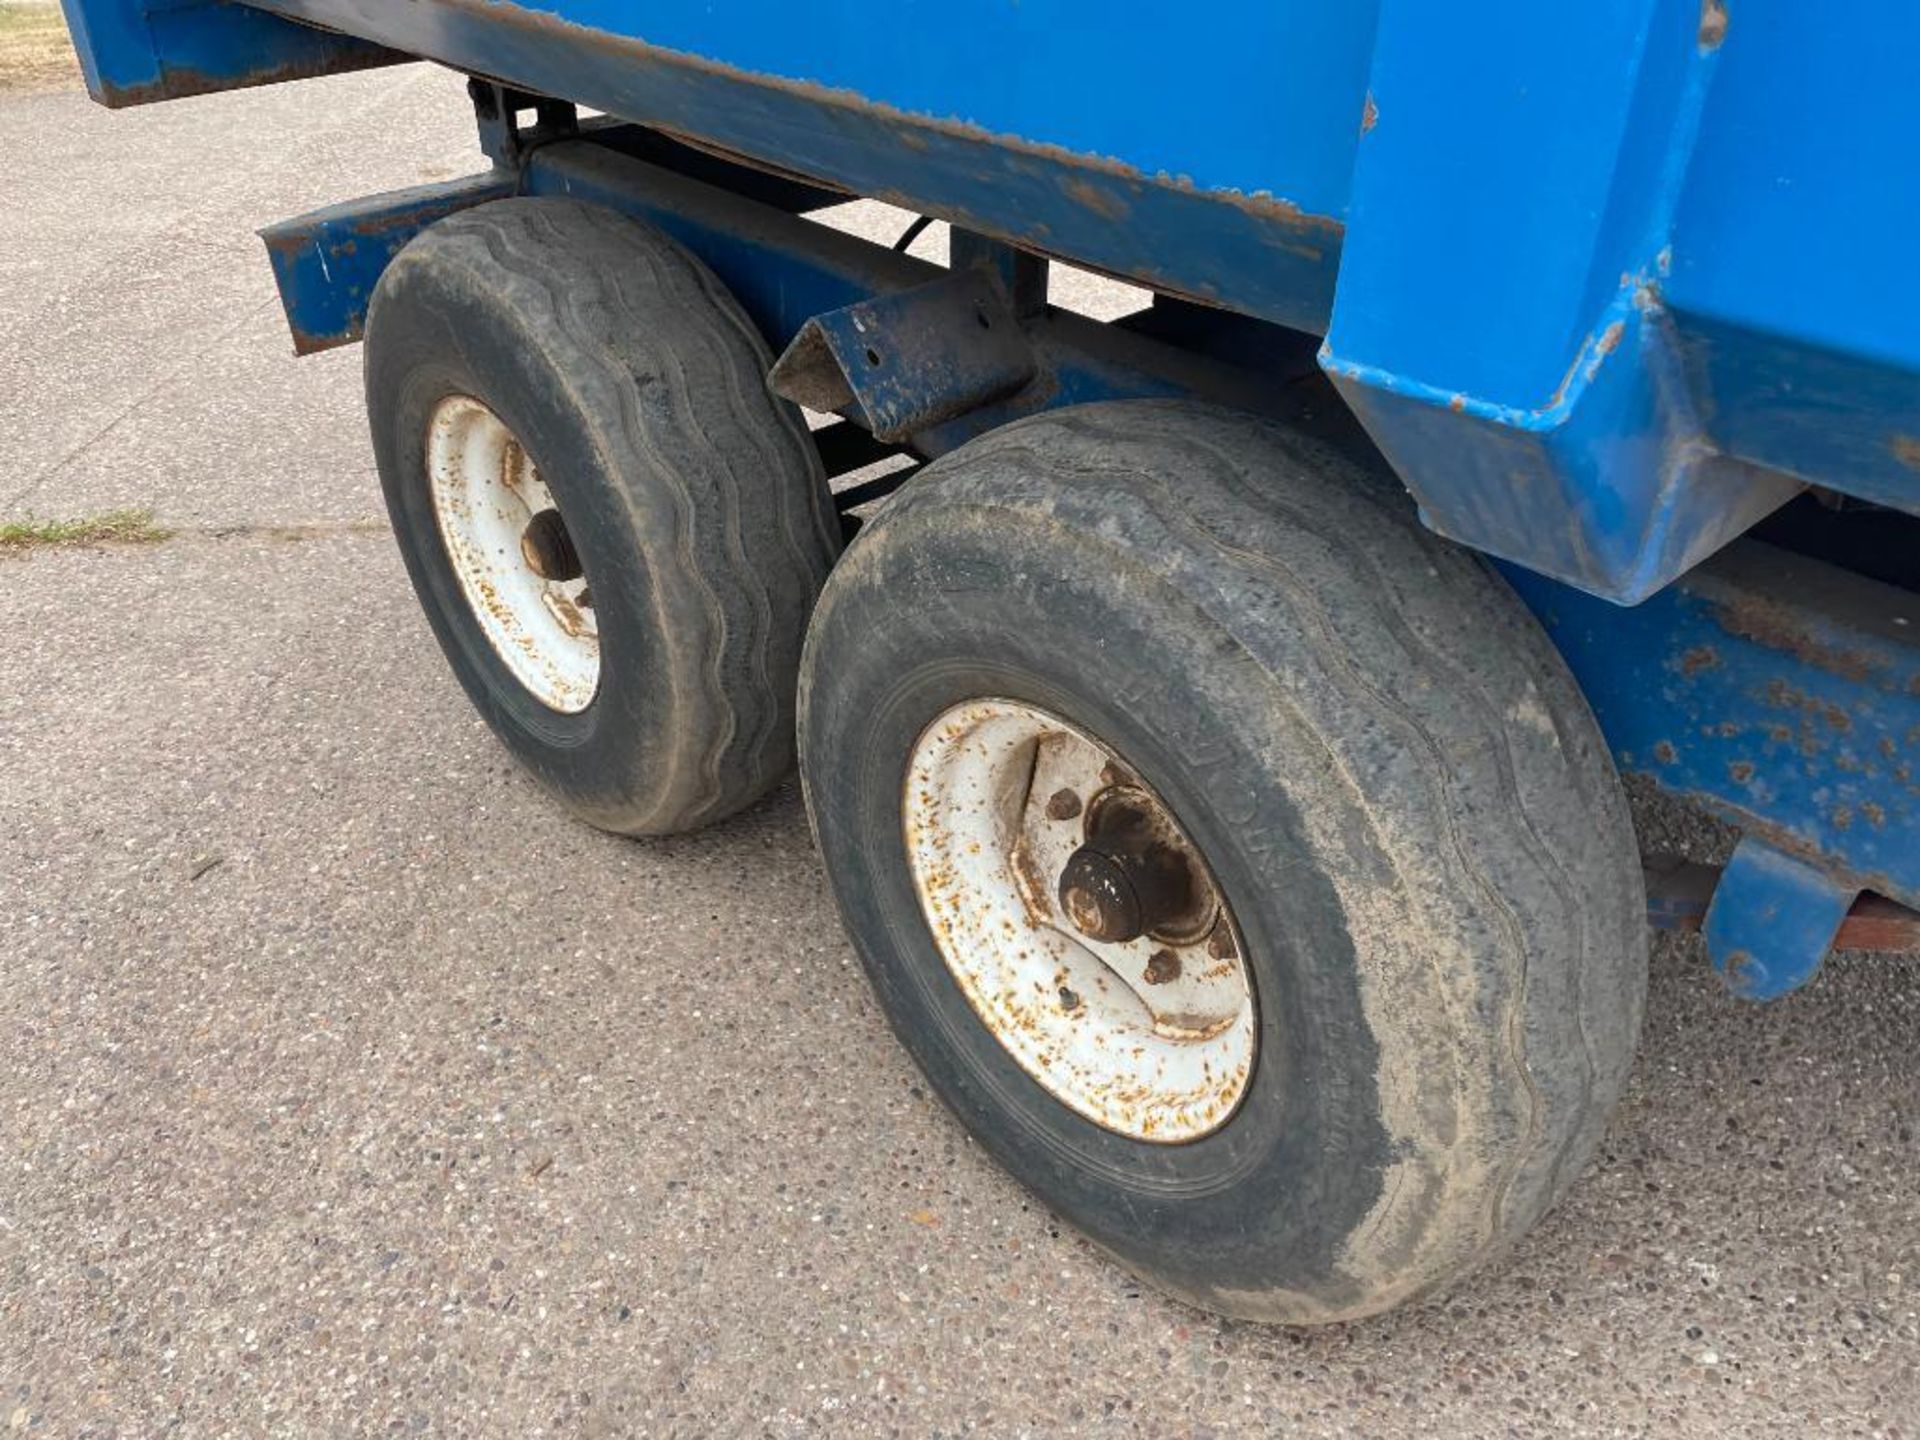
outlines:
M1331 349L1440 403L1565 405L1663 244L1697 27L1697 0L1384 0Z

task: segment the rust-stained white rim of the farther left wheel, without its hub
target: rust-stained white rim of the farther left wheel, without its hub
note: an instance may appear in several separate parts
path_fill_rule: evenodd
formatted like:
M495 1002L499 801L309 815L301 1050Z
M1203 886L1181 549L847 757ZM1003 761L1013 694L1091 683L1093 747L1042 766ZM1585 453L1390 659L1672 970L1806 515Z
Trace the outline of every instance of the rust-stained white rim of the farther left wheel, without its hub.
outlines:
M532 457L484 403L447 396L426 426L426 474L453 574L493 653L547 708L588 708L599 626L586 580L547 578L528 555L534 516L559 515Z

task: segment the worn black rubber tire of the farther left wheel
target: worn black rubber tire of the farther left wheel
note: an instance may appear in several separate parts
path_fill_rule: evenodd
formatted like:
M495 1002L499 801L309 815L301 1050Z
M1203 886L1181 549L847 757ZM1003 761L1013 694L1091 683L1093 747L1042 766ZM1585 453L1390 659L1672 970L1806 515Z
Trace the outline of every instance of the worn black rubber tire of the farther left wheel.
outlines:
M605 829L720 820L793 766L795 672L839 532L770 365L699 259L570 200L444 219L374 290L367 411L415 591L499 739ZM455 578L424 453L447 394L505 420L566 516L601 634L599 689L578 714L515 680Z

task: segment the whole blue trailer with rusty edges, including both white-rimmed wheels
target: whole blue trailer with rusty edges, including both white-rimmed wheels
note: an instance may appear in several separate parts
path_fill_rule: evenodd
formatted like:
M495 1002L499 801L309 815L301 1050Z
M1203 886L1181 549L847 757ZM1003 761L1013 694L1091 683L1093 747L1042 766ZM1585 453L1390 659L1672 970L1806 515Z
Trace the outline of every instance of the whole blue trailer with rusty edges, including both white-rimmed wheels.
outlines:
M263 230L455 674L616 831L797 758L933 1087L1196 1304L1523 1235L1649 914L1753 998L1920 933L1914 6L67 17L108 106L470 77L484 169ZM1644 868L1622 776L1724 872Z

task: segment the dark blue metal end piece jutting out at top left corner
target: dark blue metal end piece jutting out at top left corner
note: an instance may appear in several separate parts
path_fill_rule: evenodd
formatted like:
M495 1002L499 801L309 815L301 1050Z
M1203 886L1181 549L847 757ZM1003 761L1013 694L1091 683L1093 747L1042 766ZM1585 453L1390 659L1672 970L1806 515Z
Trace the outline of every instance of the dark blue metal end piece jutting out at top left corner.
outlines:
M405 60L225 0L61 0L61 8L86 90L111 108Z

